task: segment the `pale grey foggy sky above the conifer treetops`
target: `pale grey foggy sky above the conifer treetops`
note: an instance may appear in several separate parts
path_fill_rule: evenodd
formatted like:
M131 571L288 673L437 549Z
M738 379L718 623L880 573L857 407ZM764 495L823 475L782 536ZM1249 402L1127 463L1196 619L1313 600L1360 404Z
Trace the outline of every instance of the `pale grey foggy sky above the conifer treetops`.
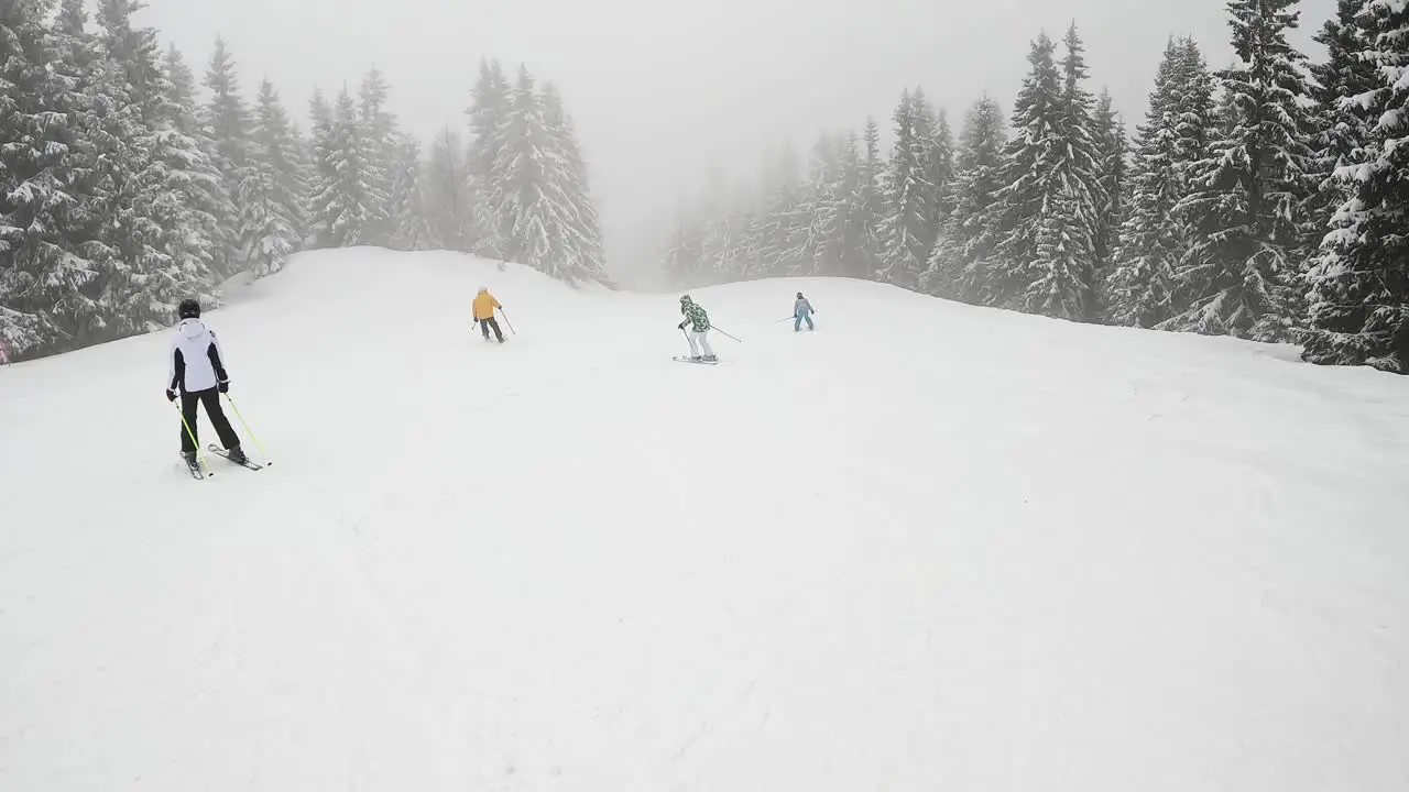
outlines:
M464 110L482 56L564 90L592 166L619 271L651 259L643 225L707 162L752 172L768 141L810 148L824 128L882 125L905 86L951 117L985 90L1010 109L1040 30L1075 18L1093 90L1130 127L1171 35L1229 59L1222 0L148 0L139 21L200 70L223 35L247 94L269 76L306 127L314 87L356 87L369 68L392 110L428 141ZM1302 3L1301 42L1334 11Z

